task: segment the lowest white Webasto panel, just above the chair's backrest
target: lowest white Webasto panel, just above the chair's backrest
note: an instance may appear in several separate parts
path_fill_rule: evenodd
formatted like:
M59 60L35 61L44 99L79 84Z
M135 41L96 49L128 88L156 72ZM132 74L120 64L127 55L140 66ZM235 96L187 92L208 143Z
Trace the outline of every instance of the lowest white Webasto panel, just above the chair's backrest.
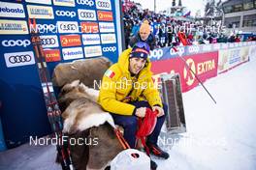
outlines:
M62 55L64 60L83 58L83 52L81 47L62 48Z

